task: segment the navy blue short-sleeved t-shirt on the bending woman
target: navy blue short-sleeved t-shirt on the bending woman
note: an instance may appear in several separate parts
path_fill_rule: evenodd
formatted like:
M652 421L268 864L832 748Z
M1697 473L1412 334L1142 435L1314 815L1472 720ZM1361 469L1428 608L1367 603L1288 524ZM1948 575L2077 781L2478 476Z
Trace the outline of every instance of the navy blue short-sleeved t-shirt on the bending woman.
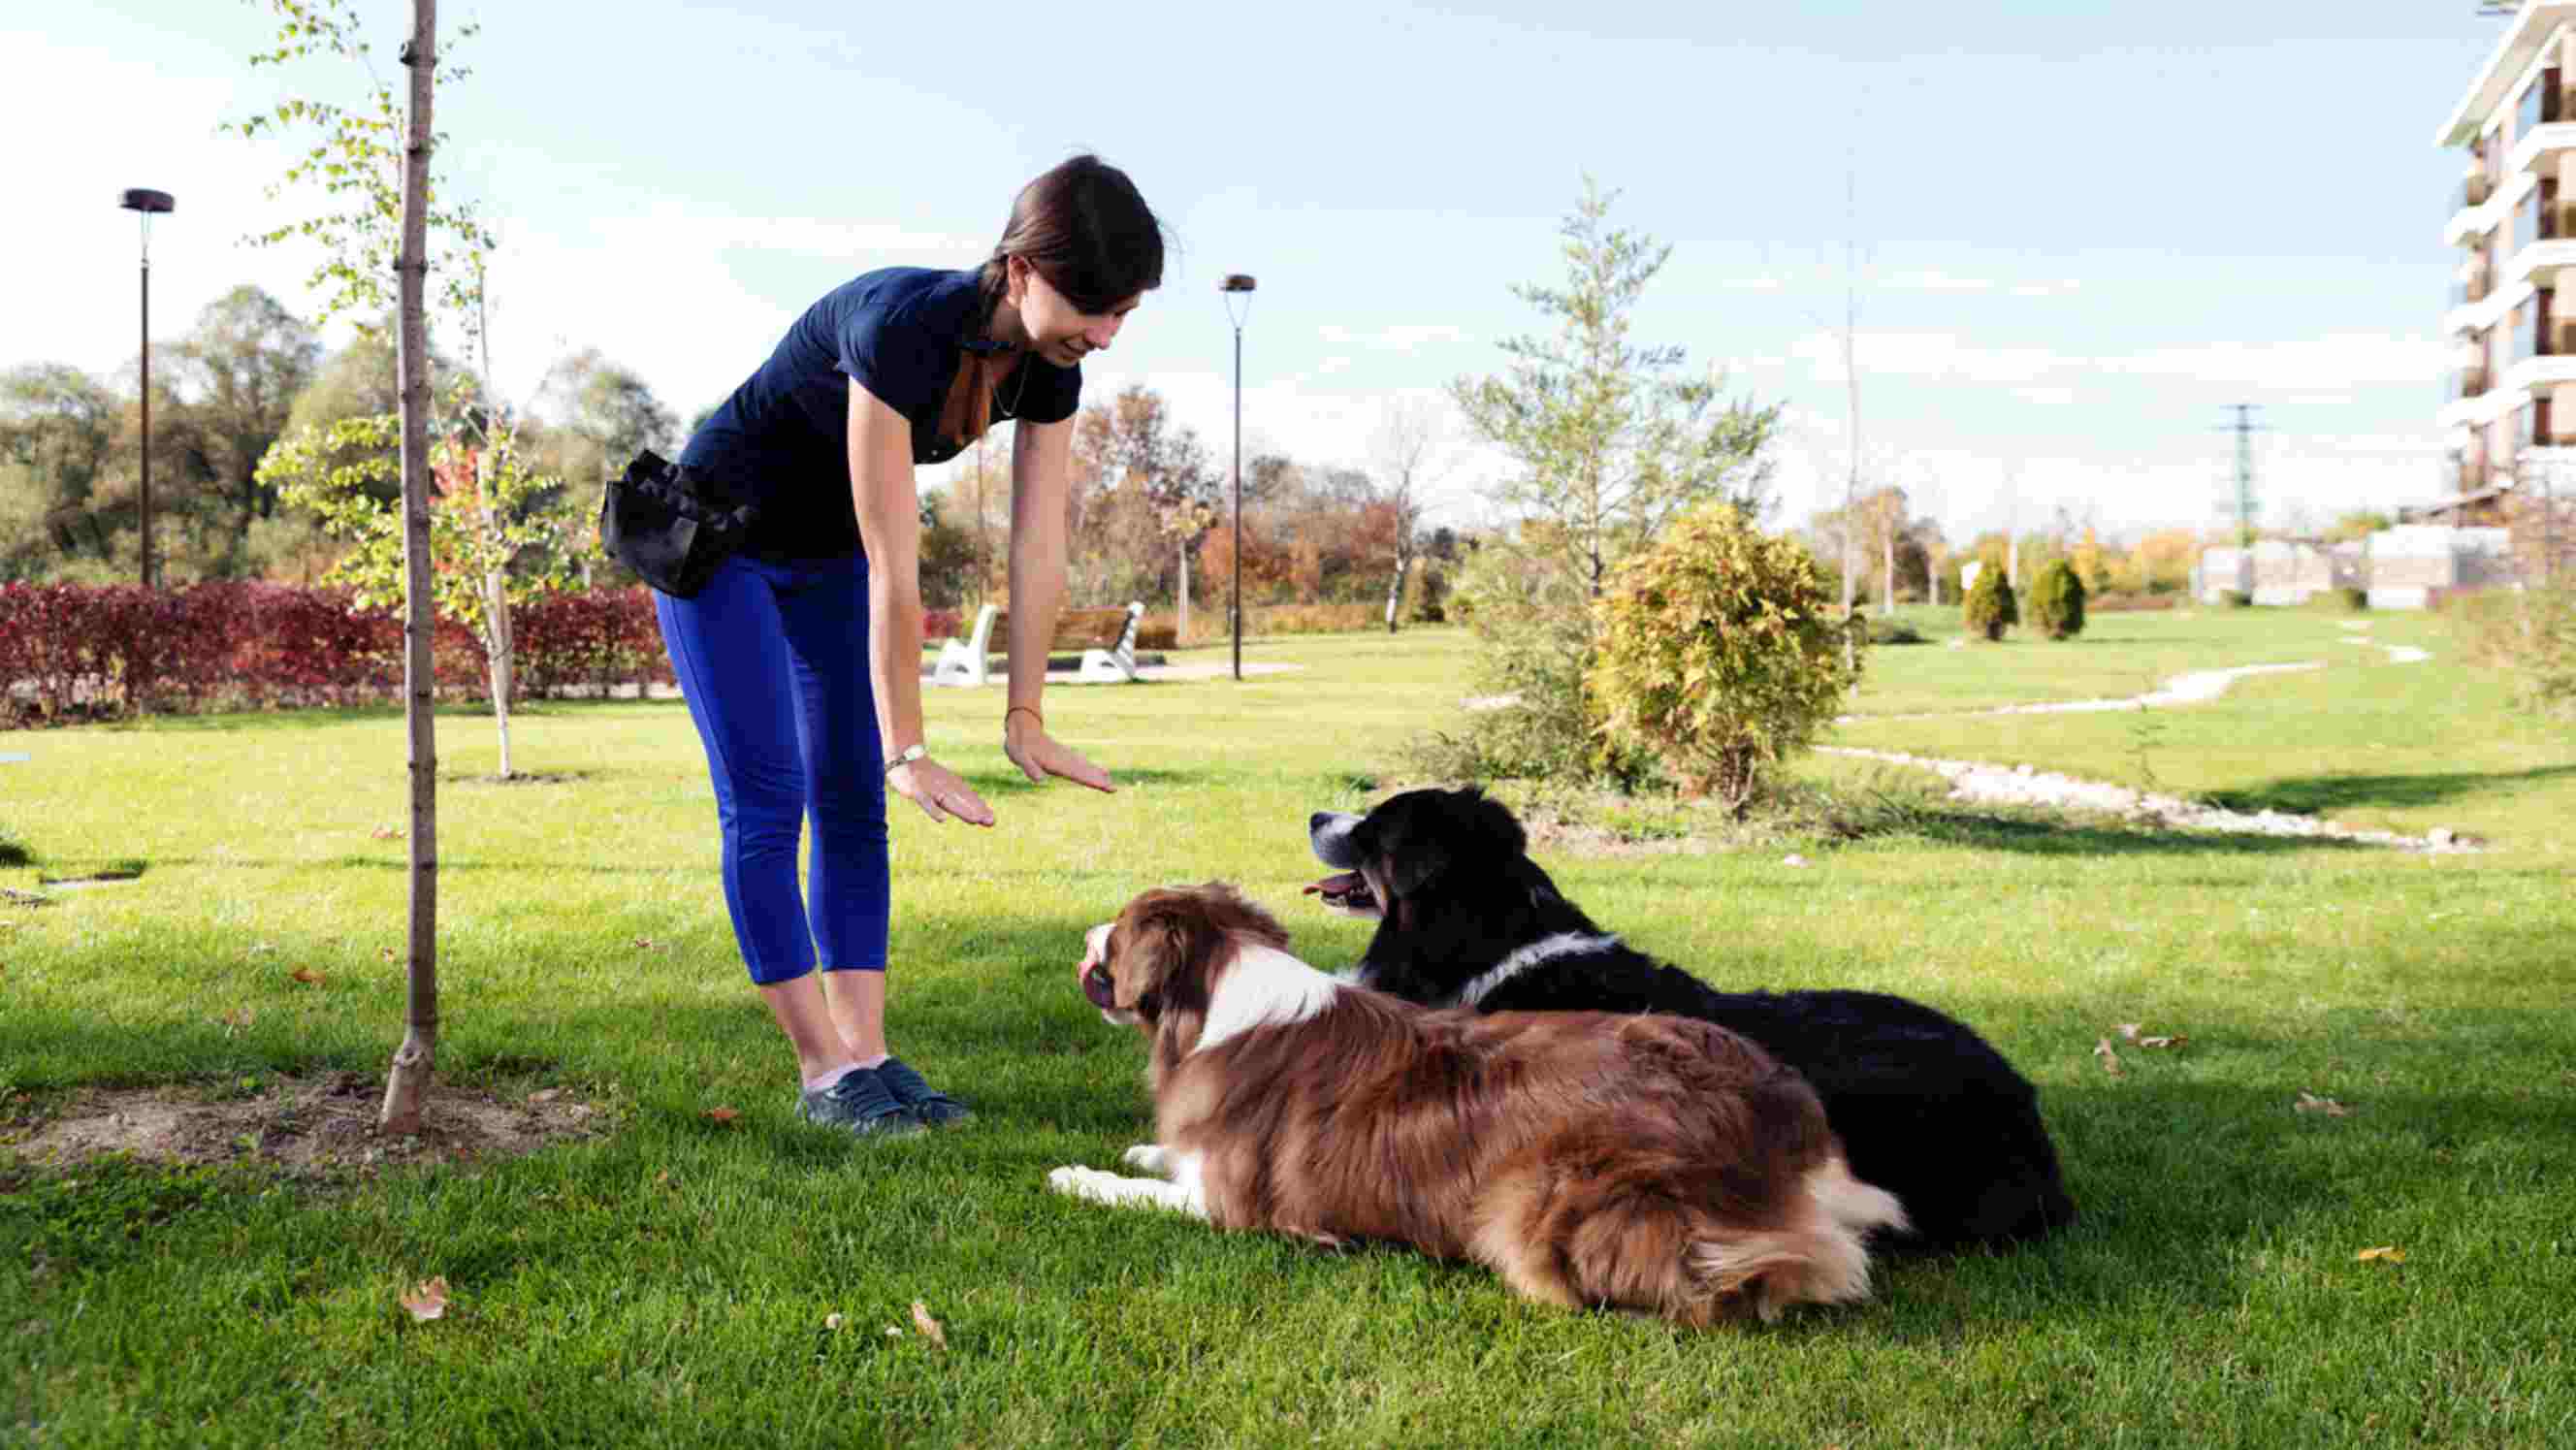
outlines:
M768 363L698 425L680 461L714 476L734 502L760 507L744 551L768 559L837 559L858 551L850 502L850 379L912 422L912 461L945 464L948 381L976 325L976 273L881 268L809 306ZM1036 353L1002 376L992 420L1061 422L1082 404L1082 368Z

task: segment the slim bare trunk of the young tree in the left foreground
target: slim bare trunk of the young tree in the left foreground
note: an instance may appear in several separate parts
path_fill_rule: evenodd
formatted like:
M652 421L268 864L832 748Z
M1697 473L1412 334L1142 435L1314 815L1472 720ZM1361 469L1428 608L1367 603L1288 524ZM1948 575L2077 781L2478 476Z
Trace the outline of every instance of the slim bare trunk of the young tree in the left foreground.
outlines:
M438 70L438 0L412 0L410 134L402 149L402 711L412 765L412 914L402 1046L384 1082L376 1128L417 1133L420 1105L438 1066L438 731L430 695L430 88Z

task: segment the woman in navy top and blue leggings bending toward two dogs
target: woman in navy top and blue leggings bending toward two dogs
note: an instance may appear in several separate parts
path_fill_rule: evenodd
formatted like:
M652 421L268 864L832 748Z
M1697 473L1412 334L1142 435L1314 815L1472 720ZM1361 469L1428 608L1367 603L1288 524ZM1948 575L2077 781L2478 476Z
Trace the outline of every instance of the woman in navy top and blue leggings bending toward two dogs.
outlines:
M760 510L706 590L654 608L716 783L734 940L796 1048L811 1123L899 1133L969 1115L886 1051L886 791L933 822L992 824L922 744L912 469L1018 420L1002 749L1030 780L1113 791L1046 734L1038 693L1064 598L1082 358L1159 283L1162 224L1136 185L1074 157L1020 188L981 268L886 268L832 288L680 453Z

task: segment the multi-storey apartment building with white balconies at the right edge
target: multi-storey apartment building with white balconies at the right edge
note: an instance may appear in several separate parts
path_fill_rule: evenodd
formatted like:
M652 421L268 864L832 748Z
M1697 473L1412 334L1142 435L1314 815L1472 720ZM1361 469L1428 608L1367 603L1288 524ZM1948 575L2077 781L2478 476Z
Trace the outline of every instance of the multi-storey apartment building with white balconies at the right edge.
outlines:
M2460 250L2442 335L2452 523L2499 523L2517 471L2576 466L2576 0L2524 0L2442 124L2468 165L2442 242ZM2563 198L2563 201L2561 201Z

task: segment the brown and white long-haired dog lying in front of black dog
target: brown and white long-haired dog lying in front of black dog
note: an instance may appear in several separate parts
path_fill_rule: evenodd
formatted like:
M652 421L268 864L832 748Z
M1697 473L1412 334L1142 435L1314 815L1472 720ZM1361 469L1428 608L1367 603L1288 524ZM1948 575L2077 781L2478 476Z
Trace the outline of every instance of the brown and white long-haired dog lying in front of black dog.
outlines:
M1077 976L1149 1043L1149 1180L1059 1192L1218 1229L1383 1239L1525 1298L1705 1326L1868 1298L1896 1200L1842 1164L1816 1092L1687 1017L1422 1010L1288 956L1224 883L1092 927Z

